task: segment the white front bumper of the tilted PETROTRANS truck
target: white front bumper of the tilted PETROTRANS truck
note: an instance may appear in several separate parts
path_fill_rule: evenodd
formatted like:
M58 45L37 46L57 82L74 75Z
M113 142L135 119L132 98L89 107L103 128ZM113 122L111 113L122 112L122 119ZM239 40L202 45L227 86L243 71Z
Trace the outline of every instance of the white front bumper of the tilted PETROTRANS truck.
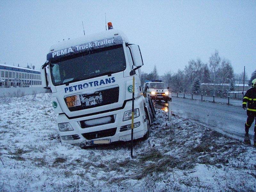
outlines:
M133 139L138 139L143 137L147 132L147 121L144 113L143 101L141 98L136 99L134 102L134 108L139 108L140 116L134 118L134 123L140 122L140 126L133 129ZM73 127L73 131L59 132L62 143L77 144L81 143L83 145L93 145L95 140L109 140L110 142L115 141L129 141L131 140L131 130L120 132L122 126L132 124L132 120L123 121L123 116L125 111L132 109L132 101L126 102L123 109L111 111L103 114L97 114L93 116L86 116L74 119L68 119L65 114L60 114L57 118L58 123L69 122ZM93 112L93 108L91 109ZM113 123L102 124L97 126L91 126L82 128L80 121L91 120L106 116L115 116ZM62 136L72 135L73 140L63 140ZM96 143L96 142L95 142Z

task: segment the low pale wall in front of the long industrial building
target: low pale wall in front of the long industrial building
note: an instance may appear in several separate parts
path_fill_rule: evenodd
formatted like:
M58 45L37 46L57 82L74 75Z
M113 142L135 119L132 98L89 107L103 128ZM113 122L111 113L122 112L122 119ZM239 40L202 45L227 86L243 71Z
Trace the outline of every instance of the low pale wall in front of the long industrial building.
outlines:
M0 88L0 97L16 97L24 95L34 95L37 93L51 92L49 89L43 87L10 87Z

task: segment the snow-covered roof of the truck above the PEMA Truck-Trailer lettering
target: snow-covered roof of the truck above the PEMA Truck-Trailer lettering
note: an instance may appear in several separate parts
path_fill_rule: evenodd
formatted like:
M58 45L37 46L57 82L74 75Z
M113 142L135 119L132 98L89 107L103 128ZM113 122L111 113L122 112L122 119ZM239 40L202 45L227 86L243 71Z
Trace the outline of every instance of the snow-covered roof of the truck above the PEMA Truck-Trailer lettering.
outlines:
M108 31L102 31L100 33L94 33L91 35L85 35L85 36L77 37L74 39L68 39L68 40L61 41L57 44L53 44L49 50L49 53L56 52L71 46L76 46L76 45L80 45L88 42L94 42L101 39L108 39L116 36L121 36L123 41L128 42L127 37L124 35L122 31L111 29Z

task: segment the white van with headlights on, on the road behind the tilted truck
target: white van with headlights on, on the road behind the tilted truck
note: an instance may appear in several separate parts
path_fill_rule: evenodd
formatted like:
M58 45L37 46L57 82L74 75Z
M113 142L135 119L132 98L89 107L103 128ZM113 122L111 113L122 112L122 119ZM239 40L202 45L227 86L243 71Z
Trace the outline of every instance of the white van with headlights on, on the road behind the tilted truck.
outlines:
M143 92L146 96L151 97L152 100L164 100L168 102L169 87L166 87L161 80L145 81L143 85Z

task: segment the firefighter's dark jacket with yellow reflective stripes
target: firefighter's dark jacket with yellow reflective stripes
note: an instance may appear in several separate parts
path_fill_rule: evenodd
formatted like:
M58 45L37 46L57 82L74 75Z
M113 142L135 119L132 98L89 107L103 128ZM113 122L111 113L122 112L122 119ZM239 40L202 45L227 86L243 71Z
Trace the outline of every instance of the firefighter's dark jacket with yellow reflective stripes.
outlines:
M243 99L243 107L246 107L248 111L255 111L256 112L256 88L250 88L244 95Z

